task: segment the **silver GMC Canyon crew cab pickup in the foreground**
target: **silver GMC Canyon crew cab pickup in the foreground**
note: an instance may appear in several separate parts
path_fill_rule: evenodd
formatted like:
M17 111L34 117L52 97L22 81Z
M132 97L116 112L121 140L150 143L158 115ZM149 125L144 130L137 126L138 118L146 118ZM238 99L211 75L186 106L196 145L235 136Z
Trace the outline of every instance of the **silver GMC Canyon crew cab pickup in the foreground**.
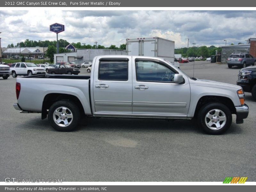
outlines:
M240 86L189 77L164 59L145 56L97 56L91 77L17 78L16 96L15 109L48 116L58 131L72 131L81 116L196 117L205 132L221 134L230 127L232 114L239 124L249 113Z

